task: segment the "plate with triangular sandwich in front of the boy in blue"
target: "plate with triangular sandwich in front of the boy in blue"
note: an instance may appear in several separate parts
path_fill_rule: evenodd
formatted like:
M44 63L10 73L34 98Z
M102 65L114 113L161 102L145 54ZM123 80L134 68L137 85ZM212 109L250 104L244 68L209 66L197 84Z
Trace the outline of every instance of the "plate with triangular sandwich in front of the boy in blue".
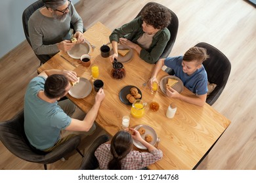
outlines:
M184 90L183 82L177 76L164 76L163 78L161 78L160 88L161 88L161 92L163 92L165 95L166 95L166 87L168 88L171 87L179 93L182 93Z

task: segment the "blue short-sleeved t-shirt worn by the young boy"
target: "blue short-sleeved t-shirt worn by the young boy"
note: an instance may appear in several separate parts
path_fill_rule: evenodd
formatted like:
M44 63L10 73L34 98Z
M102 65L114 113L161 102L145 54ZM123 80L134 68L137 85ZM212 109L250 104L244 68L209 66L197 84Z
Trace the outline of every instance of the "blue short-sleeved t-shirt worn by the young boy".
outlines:
M204 95L207 89L207 73L202 65L192 75L187 75L182 71L183 56L166 58L164 65L170 67L175 72L175 76L180 78L186 88L196 95Z

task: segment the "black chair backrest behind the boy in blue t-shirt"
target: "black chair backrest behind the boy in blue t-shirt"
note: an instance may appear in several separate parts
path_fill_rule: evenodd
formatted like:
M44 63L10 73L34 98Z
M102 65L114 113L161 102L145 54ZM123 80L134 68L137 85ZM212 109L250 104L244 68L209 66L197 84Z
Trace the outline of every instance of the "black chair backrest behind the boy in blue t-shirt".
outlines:
M209 58L203 61L203 67L207 72L208 81L217 84L206 100L209 105L213 105L226 86L231 71L231 63L220 50L210 44L200 42L195 46L205 48L209 54Z

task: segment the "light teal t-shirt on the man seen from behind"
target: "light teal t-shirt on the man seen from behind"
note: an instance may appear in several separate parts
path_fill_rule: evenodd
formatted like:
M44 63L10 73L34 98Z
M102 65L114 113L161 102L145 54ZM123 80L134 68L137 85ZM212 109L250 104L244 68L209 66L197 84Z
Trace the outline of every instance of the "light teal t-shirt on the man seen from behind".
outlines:
M28 141L39 150L51 148L60 139L61 129L71 123L71 118L55 103L37 96L44 90L45 78L37 76L30 81L24 101L24 128Z

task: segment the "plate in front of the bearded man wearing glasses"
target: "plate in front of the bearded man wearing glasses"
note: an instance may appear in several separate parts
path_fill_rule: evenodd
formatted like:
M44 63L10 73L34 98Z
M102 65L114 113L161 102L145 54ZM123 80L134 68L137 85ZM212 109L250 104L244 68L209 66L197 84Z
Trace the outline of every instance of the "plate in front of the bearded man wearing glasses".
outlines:
M80 44L75 44L72 50L68 51L68 55L74 59L80 59L83 54L89 54L91 52L91 46L89 42L81 42Z

